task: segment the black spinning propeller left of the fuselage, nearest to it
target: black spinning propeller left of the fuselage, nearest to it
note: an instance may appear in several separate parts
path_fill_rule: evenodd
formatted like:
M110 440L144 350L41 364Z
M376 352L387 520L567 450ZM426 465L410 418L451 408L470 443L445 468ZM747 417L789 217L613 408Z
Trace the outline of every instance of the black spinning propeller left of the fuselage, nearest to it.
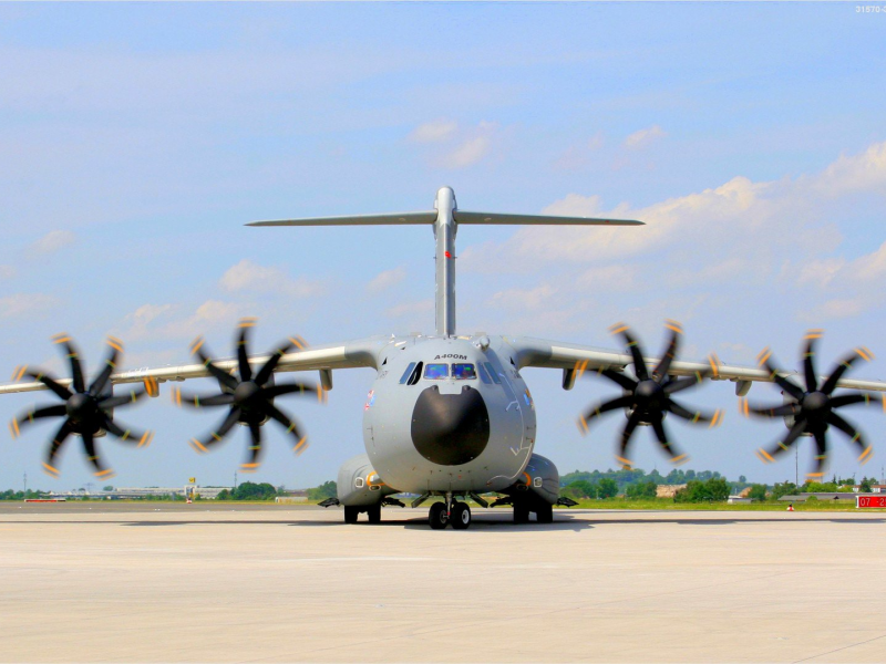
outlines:
M199 357L200 362L206 365L206 370L209 374L218 381L222 393L200 396L183 394L178 388L173 391L173 402L178 405L185 404L195 408L229 407L227 417L225 417L218 428L212 434L205 436L202 440L197 438L190 439L190 446L197 452L208 452L209 447L220 443L237 423L249 427L249 435L253 444L249 446L247 460L240 465L240 469L246 473L255 471L259 466L259 457L261 455L261 426L268 419L275 419L286 428L287 434L291 435L296 454L301 454L308 447L307 438L302 436L295 421L274 405L275 397L282 396L284 394L303 394L306 392L311 392L317 394L320 403L326 402L326 391L322 387L318 388L305 383L275 384L274 382L274 370L280 362L280 359L289 352L292 346L303 349L307 345L305 341L299 338L289 339L271 354L270 359L257 373L253 373L253 366L249 364L247 338L249 330L254 328L255 324L255 319L243 319L238 325L240 329L237 339L237 371L239 373L239 380L220 369L210 360L203 350L203 338L197 338L194 341L190 352Z

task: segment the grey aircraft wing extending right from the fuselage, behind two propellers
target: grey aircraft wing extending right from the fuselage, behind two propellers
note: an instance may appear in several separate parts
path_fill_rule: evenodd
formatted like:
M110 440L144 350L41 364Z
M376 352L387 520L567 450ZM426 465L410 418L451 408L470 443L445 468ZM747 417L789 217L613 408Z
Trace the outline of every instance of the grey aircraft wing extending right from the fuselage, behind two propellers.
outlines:
M566 390L571 388L576 375L585 371L597 371L599 369L624 371L633 362L633 359L627 352L596 349L558 341L547 341L544 339L505 338L505 340L516 351L518 369L523 369L524 366L540 366L545 369L563 370L563 385ZM643 360L646 364L650 366L650 370L659 362L658 357L643 357ZM715 355L710 356L703 362L674 360L668 370L668 374L688 376L700 371L711 372L711 380L714 381L734 382L736 384L735 392L741 395L746 394L751 383L773 382L772 375L765 369L723 364ZM781 375L796 375L800 377L796 372L783 372ZM849 390L886 392L886 381L842 378L837 382L837 386Z

